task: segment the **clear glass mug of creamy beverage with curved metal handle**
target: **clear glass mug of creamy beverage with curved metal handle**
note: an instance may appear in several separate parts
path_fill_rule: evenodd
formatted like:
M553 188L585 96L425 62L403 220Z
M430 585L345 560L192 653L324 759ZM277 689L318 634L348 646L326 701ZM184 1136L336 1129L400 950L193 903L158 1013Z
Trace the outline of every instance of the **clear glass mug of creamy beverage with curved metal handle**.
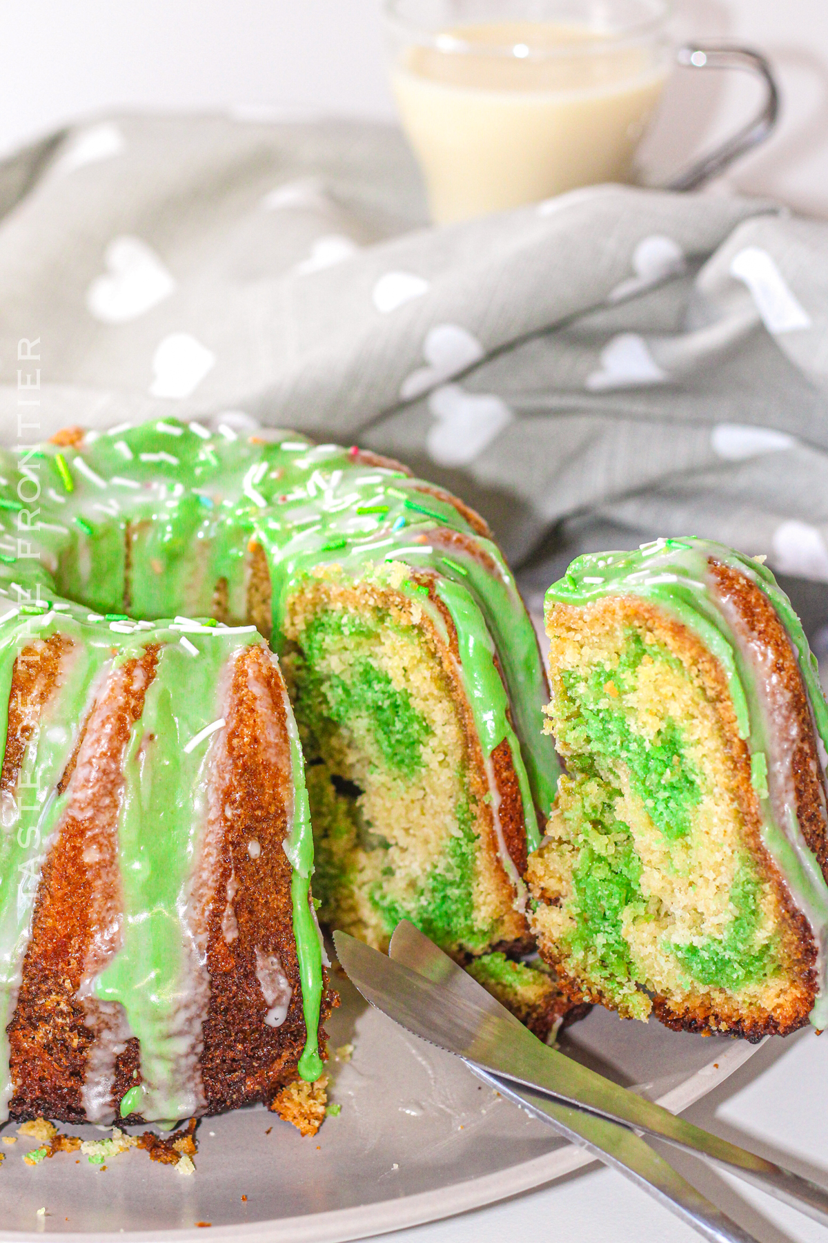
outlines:
M391 86L438 224L629 181L678 61L765 81L750 124L669 189L693 189L761 142L778 94L747 48L673 51L669 0L385 0Z

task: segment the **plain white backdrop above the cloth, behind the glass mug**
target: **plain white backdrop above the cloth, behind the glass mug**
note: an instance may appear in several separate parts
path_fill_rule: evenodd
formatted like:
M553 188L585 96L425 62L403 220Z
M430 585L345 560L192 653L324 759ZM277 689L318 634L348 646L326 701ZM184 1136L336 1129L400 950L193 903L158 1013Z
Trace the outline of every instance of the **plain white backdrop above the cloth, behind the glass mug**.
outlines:
M731 181L828 216L828 0L677 0L674 27L768 52L785 116ZM680 163L755 99L732 77L699 77L673 83L650 143L657 167ZM0 0L0 150L113 107L277 103L392 116L379 0Z

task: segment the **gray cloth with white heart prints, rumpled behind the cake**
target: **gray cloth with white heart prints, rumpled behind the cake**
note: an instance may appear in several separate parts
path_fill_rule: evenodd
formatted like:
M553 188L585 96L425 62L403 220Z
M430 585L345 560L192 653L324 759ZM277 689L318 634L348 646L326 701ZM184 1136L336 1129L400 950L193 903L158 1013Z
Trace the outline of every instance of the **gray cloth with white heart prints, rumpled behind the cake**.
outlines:
M389 127L117 117L0 165L0 291L6 443L242 411L459 492L530 594L693 533L828 619L828 224L596 186L436 229Z

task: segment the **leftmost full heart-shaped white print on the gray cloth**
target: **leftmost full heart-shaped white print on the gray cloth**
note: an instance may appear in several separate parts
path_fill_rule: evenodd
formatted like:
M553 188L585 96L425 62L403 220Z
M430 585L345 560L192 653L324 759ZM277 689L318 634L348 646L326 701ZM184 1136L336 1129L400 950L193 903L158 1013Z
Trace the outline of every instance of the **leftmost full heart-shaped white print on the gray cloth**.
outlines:
M127 323L175 290L175 280L140 237L115 237L104 251L107 271L87 290L86 305L103 323Z

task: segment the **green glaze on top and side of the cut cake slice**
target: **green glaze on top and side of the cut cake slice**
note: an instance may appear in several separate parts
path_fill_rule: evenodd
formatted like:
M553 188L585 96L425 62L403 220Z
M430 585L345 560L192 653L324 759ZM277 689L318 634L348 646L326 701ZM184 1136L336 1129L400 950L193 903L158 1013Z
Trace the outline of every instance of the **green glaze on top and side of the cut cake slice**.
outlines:
M775 738L767 691L749 645L731 624L732 610L722 599L710 573L711 561L744 574L765 593L776 609L796 654L817 731L828 747L828 706L802 623L772 573L751 557L744 557L724 544L693 537L658 539L636 552L578 557L564 578L550 587L546 609L554 604L583 607L611 595L647 599L699 635L720 660L727 676L740 735L746 740L751 755L751 778L762 817L762 843L785 878L796 905L808 919L818 946L818 993L811 1022L822 1029L828 1025L828 885L797 823L790 782L785 781L783 773L776 773L770 762ZM741 940L736 951L727 957L729 962L739 957L742 942L747 943L745 938L749 935L750 901L746 884L742 878L741 888L734 885L734 905L742 915L736 919L735 925L739 926L732 935ZM722 946L721 952L727 948L734 947ZM704 952L706 960L701 962L696 955L699 961L694 960L694 963L703 973L711 975L716 970L714 951L705 947ZM690 958L693 955L685 962L688 968L691 966ZM725 970L722 963L718 966ZM750 966L754 973L761 973L762 963L751 962ZM725 973L727 971L730 967Z

